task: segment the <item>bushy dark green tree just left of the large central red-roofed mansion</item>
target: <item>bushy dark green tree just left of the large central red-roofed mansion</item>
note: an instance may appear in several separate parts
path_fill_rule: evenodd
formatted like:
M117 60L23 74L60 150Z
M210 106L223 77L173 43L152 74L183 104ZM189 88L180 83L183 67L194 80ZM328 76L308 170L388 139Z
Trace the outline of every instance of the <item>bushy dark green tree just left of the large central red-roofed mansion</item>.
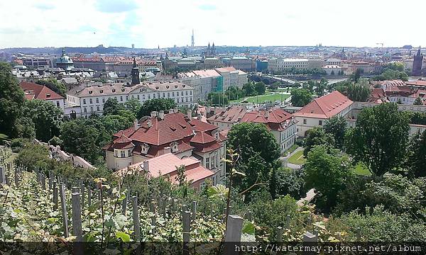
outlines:
M95 162L100 155L98 130L87 125L87 120L70 120L62 125L60 139L65 152L77 154L89 162Z

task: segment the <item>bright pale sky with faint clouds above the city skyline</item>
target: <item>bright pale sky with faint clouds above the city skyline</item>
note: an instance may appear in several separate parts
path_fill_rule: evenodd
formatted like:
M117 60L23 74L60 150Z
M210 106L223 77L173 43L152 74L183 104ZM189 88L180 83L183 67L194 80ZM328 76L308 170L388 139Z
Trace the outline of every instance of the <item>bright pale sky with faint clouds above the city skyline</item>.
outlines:
M426 1L1 0L0 48L426 46ZM418 11L418 15L416 15Z

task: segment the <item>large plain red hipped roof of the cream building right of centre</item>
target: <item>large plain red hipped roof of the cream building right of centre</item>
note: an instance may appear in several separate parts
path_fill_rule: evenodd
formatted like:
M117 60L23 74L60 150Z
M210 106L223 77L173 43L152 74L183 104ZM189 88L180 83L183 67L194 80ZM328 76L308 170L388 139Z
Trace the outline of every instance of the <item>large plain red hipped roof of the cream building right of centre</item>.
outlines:
M303 106L300 111L293 113L297 117L331 118L353 102L339 91L314 99L314 101Z

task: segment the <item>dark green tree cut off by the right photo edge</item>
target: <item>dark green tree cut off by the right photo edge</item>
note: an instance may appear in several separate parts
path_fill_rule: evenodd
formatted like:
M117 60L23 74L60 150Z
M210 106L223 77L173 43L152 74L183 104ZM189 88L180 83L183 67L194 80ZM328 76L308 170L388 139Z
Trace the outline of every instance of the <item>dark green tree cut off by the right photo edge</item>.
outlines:
M408 146L408 166L413 176L426 177L426 130L417 132Z

